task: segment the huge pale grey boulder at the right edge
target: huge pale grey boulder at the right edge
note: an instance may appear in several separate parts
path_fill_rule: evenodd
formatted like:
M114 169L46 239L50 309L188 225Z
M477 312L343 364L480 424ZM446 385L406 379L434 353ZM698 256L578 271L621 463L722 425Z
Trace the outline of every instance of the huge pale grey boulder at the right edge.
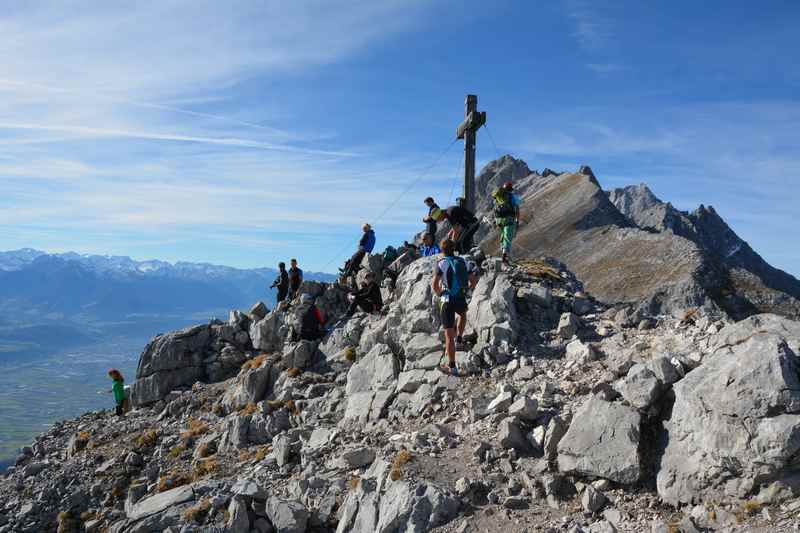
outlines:
M674 385L657 479L665 501L741 498L787 475L800 451L797 329L777 317L725 328L715 352Z

